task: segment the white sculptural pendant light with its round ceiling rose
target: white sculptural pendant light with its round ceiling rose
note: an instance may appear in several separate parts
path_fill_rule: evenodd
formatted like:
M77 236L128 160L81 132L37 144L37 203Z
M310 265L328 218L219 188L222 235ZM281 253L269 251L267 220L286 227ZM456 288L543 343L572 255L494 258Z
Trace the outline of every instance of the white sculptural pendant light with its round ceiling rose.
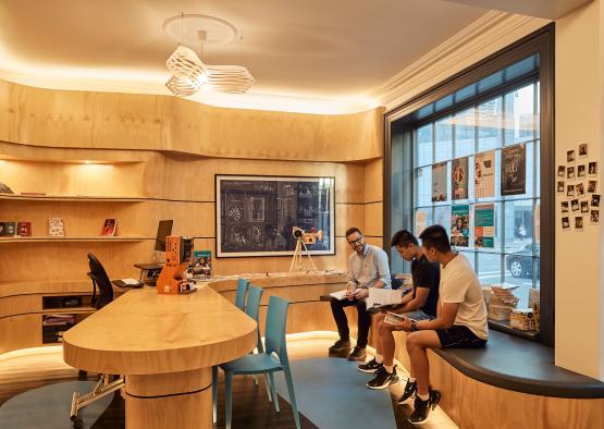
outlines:
M178 32L180 27L180 32ZM226 21L199 14L181 14L163 23L163 29L180 41L165 64L172 72L165 86L178 97L192 96L200 89L219 93L246 93L256 82L243 65L205 64L185 42L226 44L237 37L236 28ZM180 33L180 38L178 38Z

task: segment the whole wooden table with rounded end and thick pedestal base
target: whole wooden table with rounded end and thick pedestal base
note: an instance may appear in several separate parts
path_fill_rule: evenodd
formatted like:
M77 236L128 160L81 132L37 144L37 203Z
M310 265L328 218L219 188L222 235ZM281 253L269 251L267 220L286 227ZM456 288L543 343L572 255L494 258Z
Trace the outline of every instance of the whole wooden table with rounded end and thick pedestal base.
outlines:
M256 347L256 321L207 285L127 292L65 332L74 368L126 376L126 428L211 428L211 367Z

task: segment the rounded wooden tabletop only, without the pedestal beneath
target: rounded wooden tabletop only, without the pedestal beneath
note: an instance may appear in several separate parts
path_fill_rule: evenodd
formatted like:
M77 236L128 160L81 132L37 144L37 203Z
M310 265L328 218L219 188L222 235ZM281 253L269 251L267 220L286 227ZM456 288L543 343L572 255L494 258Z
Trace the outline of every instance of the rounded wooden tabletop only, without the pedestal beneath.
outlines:
M207 285L189 295L132 290L65 332L63 359L102 373L187 371L244 356L256 326Z

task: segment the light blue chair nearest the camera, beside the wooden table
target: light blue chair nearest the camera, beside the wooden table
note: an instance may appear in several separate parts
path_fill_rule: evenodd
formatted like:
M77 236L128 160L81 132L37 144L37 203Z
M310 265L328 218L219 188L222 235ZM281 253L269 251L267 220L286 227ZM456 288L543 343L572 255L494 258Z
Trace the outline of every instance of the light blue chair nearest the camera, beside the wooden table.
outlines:
M225 414L226 429L231 429L232 407L233 407L233 376L236 375L255 375L264 373L269 377L273 391L273 399L276 412L279 413L279 396L276 395L276 387L273 379L273 372L283 371L285 382L287 383L287 392L289 402L296 420L296 428L300 428L300 417L296 405L296 396L294 394L294 382L292 381L292 372L289 370L289 360L287 358L287 347L285 345L285 324L287 322L287 307L289 303L278 296L271 296L269 299L269 310L267 314L267 327L264 332L266 350L263 353L246 355L239 359L222 364L220 367L224 371L224 389L225 389ZM218 390L215 383L213 389ZM215 397L215 395L214 395Z

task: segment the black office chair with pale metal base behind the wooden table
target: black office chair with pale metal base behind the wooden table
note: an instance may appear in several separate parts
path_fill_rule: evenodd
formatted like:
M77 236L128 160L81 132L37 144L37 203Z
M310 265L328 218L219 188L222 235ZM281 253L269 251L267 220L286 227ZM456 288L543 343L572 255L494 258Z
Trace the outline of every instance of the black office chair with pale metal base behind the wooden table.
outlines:
M109 303L113 301L113 286L109 281L107 271L102 263L93 254L88 254L88 265L90 267L90 272L88 277L93 279L93 307L96 309L101 309ZM97 297L97 287L99 289L99 296ZM115 380L111 381L113 376L109 373L102 373L99 376L97 383L91 392L85 395L79 395L79 392L73 392L72 407L71 407L71 420L73 421L74 428L83 428L84 422L82 418L77 416L77 410L85 407L93 402L107 396L110 393L122 389L124 383L124 377L118 377Z

